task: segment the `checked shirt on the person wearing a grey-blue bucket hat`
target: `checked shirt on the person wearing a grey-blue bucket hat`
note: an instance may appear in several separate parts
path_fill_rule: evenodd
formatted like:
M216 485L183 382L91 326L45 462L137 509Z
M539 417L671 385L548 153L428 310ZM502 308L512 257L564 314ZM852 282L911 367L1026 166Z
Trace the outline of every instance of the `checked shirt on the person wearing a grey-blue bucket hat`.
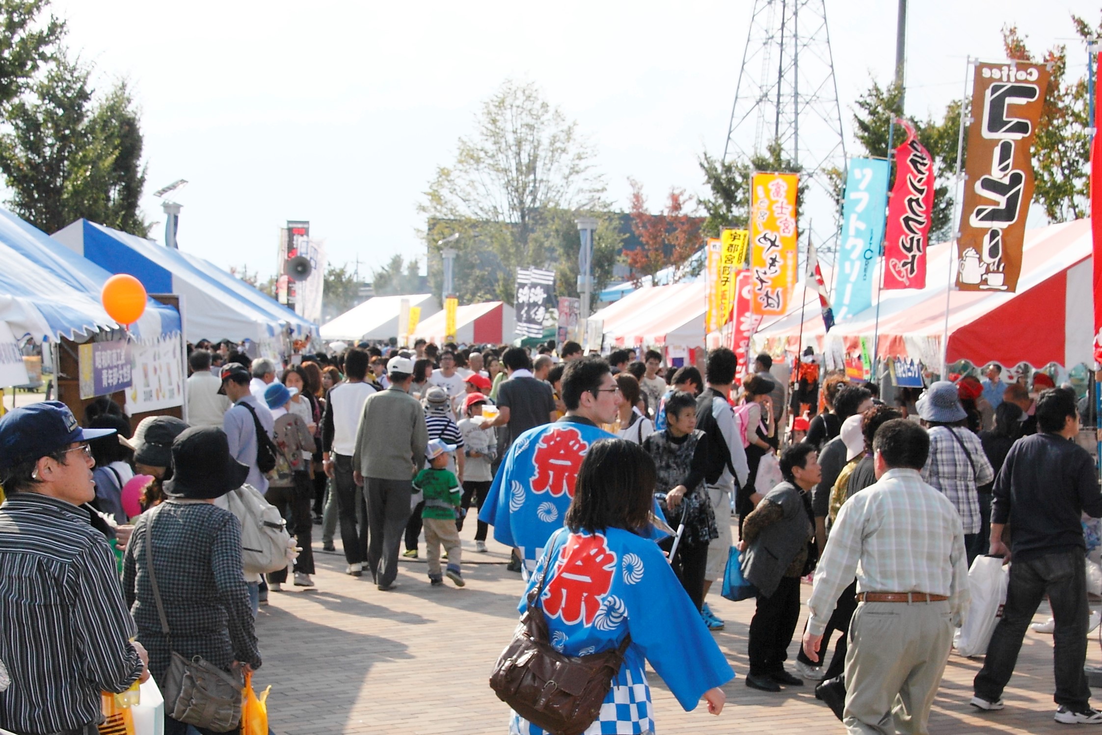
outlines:
M979 533L983 521L976 487L995 480L983 444L968 429L933 426L929 433L930 456L922 467L922 479L953 501L965 533Z

